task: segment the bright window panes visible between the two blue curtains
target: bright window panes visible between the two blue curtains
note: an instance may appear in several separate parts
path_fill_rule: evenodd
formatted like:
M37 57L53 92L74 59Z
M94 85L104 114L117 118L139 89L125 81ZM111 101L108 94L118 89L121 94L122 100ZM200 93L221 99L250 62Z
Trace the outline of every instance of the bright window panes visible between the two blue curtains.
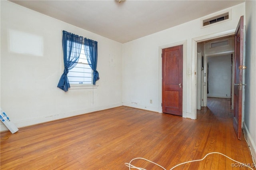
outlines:
M84 44L82 44L78 63L68 71L68 80L70 84L92 84L92 69L84 53Z

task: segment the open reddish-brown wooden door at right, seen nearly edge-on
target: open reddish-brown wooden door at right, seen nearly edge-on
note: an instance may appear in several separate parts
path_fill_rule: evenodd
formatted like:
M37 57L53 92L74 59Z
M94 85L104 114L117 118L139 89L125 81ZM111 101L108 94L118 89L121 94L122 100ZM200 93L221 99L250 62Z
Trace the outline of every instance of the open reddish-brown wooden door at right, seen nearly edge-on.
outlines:
M244 54L244 16L240 17L235 32L235 56L234 56L234 119L233 126L238 139L242 134L242 79L243 79L243 54Z

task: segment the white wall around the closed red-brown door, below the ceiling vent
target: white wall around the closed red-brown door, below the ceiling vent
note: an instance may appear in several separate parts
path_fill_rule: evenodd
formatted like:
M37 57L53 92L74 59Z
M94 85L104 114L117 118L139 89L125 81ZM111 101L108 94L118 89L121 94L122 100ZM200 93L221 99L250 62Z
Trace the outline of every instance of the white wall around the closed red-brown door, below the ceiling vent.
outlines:
M228 11L230 8L223 10ZM196 63L192 40L202 36L234 30L240 16L245 14L245 4L232 8L232 20L201 28L200 18L157 32L150 36L124 43L123 104L126 106L162 112L162 47L184 43L183 117L195 119ZM219 14L219 13L218 13ZM152 104L150 103L152 99Z

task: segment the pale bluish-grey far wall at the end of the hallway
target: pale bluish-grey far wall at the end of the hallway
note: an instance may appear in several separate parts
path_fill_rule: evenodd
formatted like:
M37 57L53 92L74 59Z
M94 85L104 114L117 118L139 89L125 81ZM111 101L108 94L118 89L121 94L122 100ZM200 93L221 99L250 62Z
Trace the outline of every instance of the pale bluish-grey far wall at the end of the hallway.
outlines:
M208 97L231 97L231 54L208 57Z

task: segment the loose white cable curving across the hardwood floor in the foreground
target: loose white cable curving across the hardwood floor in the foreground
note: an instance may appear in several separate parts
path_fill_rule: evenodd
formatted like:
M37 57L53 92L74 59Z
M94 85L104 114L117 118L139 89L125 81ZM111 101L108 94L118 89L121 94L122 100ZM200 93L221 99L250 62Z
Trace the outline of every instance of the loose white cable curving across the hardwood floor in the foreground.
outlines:
M234 159L232 159L232 158L230 158L230 157L228 157L228 156L226 156L226 155L224 155L224 154L222 154L222 153L220 153L220 152L210 152L210 153L206 154L206 155L204 156L204 158L206 158L206 157L207 157L208 155L210 155L210 154L221 154L221 155L223 155L223 156L229 158L230 160L233 160L234 162L236 162L236 163L238 163L238 164L241 164L242 166L248 167L248 168L250 168L251 170L253 170L253 169L252 169L250 166L248 166L247 164L238 162L238 161L236 161L236 160L234 160ZM178 165L172 167L170 170L172 170L172 169L174 169L174 168L176 168L177 166L180 166L180 165L182 165L182 164L186 164L186 163L189 163L189 162L196 162L196 161L204 160L204 158L198 159L198 160L190 160L190 161L187 161L187 162L180 163L180 164L178 164ZM138 168L138 167L136 167L136 166L134 166L134 165L131 164L131 162L132 162L133 160L136 160L136 159L143 159L143 160L146 160L146 161L151 162L151 163L153 163L153 164L156 164L155 162L152 162L152 161L147 160L147 159L145 159L145 158L134 158L134 159L132 159L132 160L130 161L130 163L125 163L125 165L129 167L129 170L131 170L131 168L136 168L136 169L138 169L138 170L146 170L146 169L144 169L144 168ZM160 165L158 165L158 164L156 164L156 165L157 165L157 166L160 166ZM255 165L255 164L254 164L254 165ZM230 166L231 166L231 165L230 165ZM162 166L160 166L160 167L163 168ZM166 170L165 168L163 168L163 169Z

